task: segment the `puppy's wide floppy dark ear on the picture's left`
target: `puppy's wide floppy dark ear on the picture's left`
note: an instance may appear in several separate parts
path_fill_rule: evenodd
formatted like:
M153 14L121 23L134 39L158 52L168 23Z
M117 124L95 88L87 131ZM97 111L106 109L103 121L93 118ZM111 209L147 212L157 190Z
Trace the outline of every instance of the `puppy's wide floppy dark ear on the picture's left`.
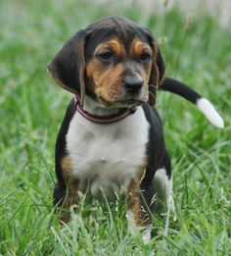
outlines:
M77 94L83 104L85 95L84 46L87 32L76 32L48 65L49 75L63 88Z

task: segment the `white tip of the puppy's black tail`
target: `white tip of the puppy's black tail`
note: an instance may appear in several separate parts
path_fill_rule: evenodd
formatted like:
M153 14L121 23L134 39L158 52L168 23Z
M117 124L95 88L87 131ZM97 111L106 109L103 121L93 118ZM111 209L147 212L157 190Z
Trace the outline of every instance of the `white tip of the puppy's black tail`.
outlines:
M206 116L208 121L216 128L224 128L224 121L217 113L215 108L206 98L200 98L197 101L197 107L202 111Z

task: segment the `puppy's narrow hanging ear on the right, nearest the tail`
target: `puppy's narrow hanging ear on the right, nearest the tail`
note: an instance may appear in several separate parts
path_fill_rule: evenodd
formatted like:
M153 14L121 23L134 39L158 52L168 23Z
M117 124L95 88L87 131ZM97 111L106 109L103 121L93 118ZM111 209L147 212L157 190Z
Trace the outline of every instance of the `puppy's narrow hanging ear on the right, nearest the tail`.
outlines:
M154 106L156 103L158 88L162 85L162 80L165 74L165 64L162 58L162 53L156 41L153 41L153 64L151 75L149 78L149 104Z

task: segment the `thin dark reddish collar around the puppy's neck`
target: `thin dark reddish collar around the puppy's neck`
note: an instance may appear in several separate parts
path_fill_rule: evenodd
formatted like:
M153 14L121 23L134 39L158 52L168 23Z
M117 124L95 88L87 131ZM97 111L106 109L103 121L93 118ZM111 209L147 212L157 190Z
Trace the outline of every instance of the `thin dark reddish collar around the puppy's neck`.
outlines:
M89 112L85 111L79 101L79 98L77 95L74 95L74 101L75 101L75 108L77 112L85 119L97 123L97 124L112 124L117 121L120 121L122 119L125 119L131 114L134 114L137 110L137 107L132 107L130 109L120 109L118 113L110 116L97 116L97 115L92 115Z

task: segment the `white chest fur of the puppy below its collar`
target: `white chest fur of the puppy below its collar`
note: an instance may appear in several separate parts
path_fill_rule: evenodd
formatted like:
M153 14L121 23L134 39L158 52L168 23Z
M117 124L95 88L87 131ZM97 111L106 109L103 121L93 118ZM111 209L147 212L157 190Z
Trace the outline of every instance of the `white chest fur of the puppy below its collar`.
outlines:
M142 166L148 142L149 124L141 107L114 124L91 123L75 113L69 124L67 149L71 173L79 189L107 197L126 189Z

